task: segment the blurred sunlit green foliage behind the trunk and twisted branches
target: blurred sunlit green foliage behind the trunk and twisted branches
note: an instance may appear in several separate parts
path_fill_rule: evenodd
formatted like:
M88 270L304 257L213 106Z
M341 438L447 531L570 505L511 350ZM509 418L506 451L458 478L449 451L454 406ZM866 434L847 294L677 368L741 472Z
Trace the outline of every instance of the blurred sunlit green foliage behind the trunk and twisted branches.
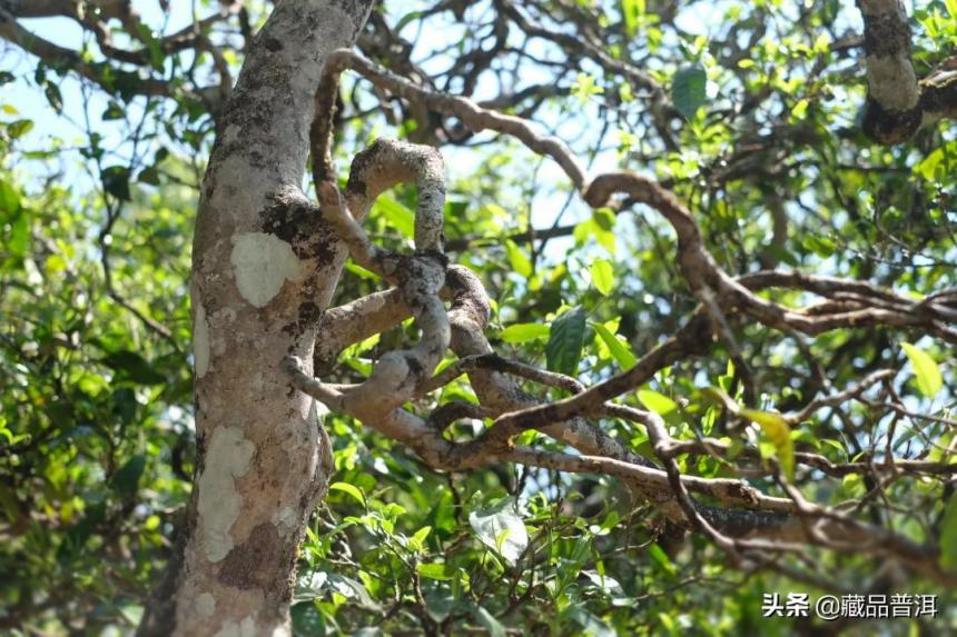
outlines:
M215 11L209 4L197 10ZM917 4L915 59L930 70L954 52L957 16L953 2ZM268 10L246 3L241 14L204 27L215 56L165 51L150 44L154 32L140 33L168 97L141 94L137 66L111 59L91 37L83 47L103 64L97 77L78 79L76 67L42 56L3 71L4 629L129 631L172 550L195 452L189 245L217 108L215 93L195 89L204 81L221 88L224 68L241 63L244 32ZM137 43L111 28L118 41ZM533 116L594 165L655 175L695 212L730 272L783 265L914 295L954 288L955 129L929 127L896 148L864 136L859 31L852 8L831 0L446 0L414 10L386 3L359 47L398 73ZM107 63L120 72L110 74ZM49 108L37 107L36 96ZM582 308L588 322L573 370L595 381L673 334L693 309L672 262L672 235L653 215L592 213L544 160L361 81L347 81L342 97L341 163L383 135L443 145L450 248L494 299L490 337L500 354L544 366L549 326ZM70 137L45 130L61 119L77 125ZM407 247L414 208L414 193L398 189L376 203L366 228L386 246ZM357 266L347 271L339 300L378 289ZM786 295L776 299L797 300ZM766 439L729 428L695 390L720 386L749 406L785 411L891 367L909 409L945 419L953 411L954 351L940 342L886 328L817 338L758 325L737 331L747 378L716 345L712 356L673 366L625 401L665 415L678 438L728 437L768 456ZM414 338L406 324L358 344L328 378L353 381L379 352ZM938 361L944 389L916 387L901 348L909 340ZM475 400L464 382L438 401L452 399ZM849 404L816 414L792 440L836 464L877 460L890 448L890 420ZM953 425L895 422L899 457L953 459ZM602 426L650 457L641 430ZM817 550L773 568L733 565L704 538L631 501L613 479L504 466L440 475L349 418L329 417L327 427L336 484L302 549L297 634L810 630L808 621L761 618L762 593L789 590L941 594L943 617L881 630L957 626L951 591L892 563ZM740 475L709 457L685 458L682 470ZM875 476L802 470L796 484L817 501L852 499L875 524L940 541L957 564L957 514L945 516L951 474L904 476L877 490ZM747 477L777 488L768 471Z

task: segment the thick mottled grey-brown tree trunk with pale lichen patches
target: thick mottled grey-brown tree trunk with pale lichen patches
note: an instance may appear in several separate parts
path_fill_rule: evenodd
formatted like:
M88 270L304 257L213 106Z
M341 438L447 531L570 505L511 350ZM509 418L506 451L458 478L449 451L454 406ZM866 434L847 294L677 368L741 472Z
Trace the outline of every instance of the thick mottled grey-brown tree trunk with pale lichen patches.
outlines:
M310 360L344 258L300 186L320 69L372 3L277 2L219 121L193 249L198 459L175 627L151 609L167 635L290 633L297 547L330 450L280 361Z

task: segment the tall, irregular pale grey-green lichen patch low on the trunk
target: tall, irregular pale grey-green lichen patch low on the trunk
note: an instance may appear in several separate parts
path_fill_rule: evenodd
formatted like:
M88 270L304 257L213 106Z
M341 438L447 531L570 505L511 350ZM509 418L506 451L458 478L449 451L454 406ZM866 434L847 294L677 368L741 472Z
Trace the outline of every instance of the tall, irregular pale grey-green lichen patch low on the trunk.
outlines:
M256 447L239 427L217 427L199 477L199 531L206 558L216 563L233 549L230 529L239 518L243 498L235 478L246 475Z

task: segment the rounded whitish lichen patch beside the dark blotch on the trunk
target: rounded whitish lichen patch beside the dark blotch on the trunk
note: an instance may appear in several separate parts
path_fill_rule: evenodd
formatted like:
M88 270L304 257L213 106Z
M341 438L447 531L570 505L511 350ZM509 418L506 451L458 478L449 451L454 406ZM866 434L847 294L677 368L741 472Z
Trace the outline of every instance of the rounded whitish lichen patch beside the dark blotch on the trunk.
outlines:
M264 232L234 235L229 262L239 293L257 308L273 300L286 279L296 281L305 273L293 247Z

